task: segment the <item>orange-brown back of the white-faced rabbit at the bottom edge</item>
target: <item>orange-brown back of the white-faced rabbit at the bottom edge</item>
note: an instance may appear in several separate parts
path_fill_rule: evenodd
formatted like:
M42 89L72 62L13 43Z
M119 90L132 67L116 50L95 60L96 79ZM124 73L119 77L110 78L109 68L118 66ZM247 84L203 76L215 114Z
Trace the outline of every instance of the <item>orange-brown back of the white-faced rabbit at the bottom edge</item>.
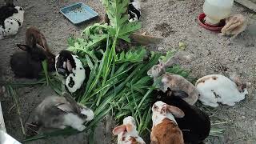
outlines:
M183 144L182 131L175 122L164 118L162 123L154 126L151 132L151 143L158 144Z

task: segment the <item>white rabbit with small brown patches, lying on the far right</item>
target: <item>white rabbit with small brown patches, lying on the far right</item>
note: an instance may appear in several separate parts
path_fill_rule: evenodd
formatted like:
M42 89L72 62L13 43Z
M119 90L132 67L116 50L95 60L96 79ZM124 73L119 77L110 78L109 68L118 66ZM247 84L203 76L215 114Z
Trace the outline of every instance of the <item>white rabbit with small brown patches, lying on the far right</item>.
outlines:
M235 79L234 79L235 80ZM238 86L237 82L232 82L220 74L210 74L199 78L195 83L199 91L199 101L203 105L217 107L218 102L229 106L234 106L235 102L240 102L246 97L248 91L246 84Z

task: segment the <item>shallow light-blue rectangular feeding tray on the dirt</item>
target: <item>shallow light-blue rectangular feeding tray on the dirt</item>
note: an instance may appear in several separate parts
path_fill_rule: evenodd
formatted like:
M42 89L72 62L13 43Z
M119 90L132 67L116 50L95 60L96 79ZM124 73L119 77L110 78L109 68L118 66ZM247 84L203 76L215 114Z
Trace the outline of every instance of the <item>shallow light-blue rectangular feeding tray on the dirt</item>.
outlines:
M61 13L70 20L74 25L87 22L92 18L98 17L98 13L86 6L82 2L74 3L70 6L62 8Z

